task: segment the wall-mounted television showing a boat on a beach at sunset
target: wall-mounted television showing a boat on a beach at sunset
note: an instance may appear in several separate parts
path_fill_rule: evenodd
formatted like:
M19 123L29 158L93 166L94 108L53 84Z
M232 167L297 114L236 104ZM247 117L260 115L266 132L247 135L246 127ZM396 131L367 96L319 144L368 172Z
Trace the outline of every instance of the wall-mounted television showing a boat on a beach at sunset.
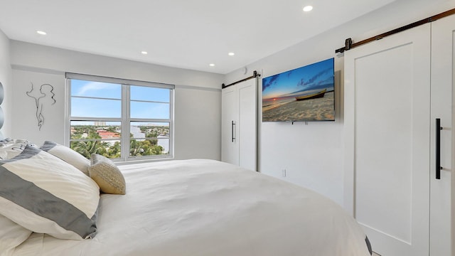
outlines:
M262 78L262 122L335 120L334 59Z

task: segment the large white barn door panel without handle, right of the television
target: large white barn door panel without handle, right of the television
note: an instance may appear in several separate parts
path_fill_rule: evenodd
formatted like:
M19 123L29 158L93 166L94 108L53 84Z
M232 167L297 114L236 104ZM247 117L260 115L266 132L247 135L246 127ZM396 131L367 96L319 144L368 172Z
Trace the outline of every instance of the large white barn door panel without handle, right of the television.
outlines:
M429 26L345 52L345 204L380 255L429 255Z

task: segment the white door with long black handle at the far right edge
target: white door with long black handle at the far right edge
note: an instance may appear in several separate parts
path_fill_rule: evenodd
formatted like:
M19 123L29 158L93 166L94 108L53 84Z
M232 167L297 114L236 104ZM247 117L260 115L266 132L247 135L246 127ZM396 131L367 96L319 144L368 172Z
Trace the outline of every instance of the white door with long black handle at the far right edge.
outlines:
M453 127L453 88L455 67L455 16L432 22L432 153L430 164L430 252L434 256L449 256L451 250L451 161ZM443 168L436 178L436 124L441 122L441 156Z

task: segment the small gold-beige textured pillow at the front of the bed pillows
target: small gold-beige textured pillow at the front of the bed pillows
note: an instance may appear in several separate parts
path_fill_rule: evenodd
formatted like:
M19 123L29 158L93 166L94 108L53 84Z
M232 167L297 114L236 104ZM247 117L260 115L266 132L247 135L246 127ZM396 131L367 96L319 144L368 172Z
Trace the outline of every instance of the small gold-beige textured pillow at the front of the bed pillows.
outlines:
M119 168L105 156L92 154L92 165L88 169L92 178L104 193L124 195L125 179Z

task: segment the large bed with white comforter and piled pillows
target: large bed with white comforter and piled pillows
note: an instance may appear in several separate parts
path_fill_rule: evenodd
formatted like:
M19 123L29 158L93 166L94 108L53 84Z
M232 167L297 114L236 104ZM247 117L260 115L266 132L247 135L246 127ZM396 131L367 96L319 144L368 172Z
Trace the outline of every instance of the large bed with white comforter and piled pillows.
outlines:
M58 144L53 144L50 149L45 145L38 149L38 146L28 144L22 146L16 152L18 154L5 157L0 148L0 157L4 157L0 161L1 256L371 255L365 233L340 206L319 193L286 181L208 159L118 167L102 159L103 164L121 174L116 179L124 179L124 194L122 188L117 194L97 191L96 198L86 195L94 189L105 189L104 186L90 187L93 185L89 177L90 165L93 166L94 162L89 164L87 176L82 170L84 164L80 164L81 160L73 155L67 156L66 149ZM75 167L75 159L79 161L79 168ZM92 223L86 233L72 237L74 233L59 230L62 227L56 227L52 221L37 228L34 226L36 222L50 220L45 219L45 214L33 215L32 210L25 210L25 217L16 217L21 216L20 211L28 206L11 206L11 201L5 199L8 196L4 195L2 186L15 183L5 182L8 177L5 175L15 172L16 176L23 178L40 173L40 170L36 171L40 166L43 172L58 169L58 173L51 174L52 177L64 173L71 177L71 182L80 178L89 183L90 186L83 188L79 195L77 189L80 186L70 188L69 183L55 185L61 181L48 181L53 179L45 177L48 174L39 174L35 182L43 183L39 185L43 189L47 186L58 189L58 192L51 191L54 194L63 193L61 190L70 191L61 197L67 196L68 201L75 201L74 205L79 203L85 208L94 208L85 204L97 201L95 218L91 213L88 215ZM22 169L30 168L33 171L21 174ZM81 201L81 195L86 200ZM33 207L45 207L45 204L43 201ZM16 208L12 215L9 213L11 208ZM22 223L23 218L33 220Z

